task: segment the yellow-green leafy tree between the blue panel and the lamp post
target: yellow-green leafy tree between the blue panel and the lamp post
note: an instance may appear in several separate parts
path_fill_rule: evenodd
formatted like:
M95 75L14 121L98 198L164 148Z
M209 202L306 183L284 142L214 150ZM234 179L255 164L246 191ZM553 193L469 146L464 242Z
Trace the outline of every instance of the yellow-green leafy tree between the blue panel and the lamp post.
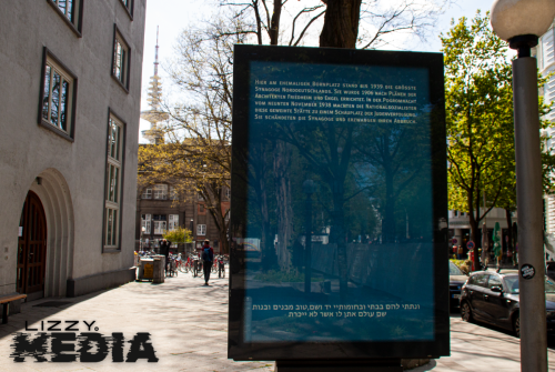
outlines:
M507 44L478 11L441 36L445 53L445 98L450 209L468 212L471 240L493 208L511 224L516 207L512 66ZM541 84L545 79L541 79ZM539 115L549 111L542 100ZM551 125L542 121L542 129ZM552 155L544 153L544 187L552 183ZM484 202L485 200L485 202ZM474 255L478 267L477 254Z

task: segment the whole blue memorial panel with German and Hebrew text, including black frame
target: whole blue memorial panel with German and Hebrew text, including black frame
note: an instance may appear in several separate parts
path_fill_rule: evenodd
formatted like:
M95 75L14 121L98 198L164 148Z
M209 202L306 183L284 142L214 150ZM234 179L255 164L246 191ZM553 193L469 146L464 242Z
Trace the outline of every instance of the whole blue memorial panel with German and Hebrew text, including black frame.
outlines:
M229 355L448 344L443 56L236 46Z

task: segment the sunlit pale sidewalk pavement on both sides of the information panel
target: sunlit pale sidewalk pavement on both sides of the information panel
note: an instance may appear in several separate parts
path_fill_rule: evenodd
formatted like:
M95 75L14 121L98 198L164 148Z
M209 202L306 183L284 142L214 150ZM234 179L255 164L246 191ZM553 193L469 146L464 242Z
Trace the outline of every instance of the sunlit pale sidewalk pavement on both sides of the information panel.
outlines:
M218 277L218 275L216 275ZM200 278L180 273L163 284L133 282L117 289L75 299L42 299L22 305L21 313L0 325L0 371L273 371L273 362L234 362L228 360L228 279L212 279L204 286ZM70 302L58 308L37 306L51 301ZM16 363L10 358L16 332L40 328L41 321L82 321L111 335L122 332L125 340L138 332L149 332L158 363L113 363L111 352L99 363L37 363L27 358ZM518 339L493 328L468 324L458 314L451 318L452 355L414 369L433 371L517 372ZM553 341L553 340L552 340ZM554 343L554 342L552 342ZM129 344L127 343L124 355ZM555 371L555 349L549 349L549 371Z

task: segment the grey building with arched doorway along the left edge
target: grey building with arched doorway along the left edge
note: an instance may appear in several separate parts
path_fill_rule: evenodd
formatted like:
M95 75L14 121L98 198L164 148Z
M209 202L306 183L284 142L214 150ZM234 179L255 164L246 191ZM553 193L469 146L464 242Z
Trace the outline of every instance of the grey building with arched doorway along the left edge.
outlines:
M0 294L134 279L147 0L19 0L0 12Z

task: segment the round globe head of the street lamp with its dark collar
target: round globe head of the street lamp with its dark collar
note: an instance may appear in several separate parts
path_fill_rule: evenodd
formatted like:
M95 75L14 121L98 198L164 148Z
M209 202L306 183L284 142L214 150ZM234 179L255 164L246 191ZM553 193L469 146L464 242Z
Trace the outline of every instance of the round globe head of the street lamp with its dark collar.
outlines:
M491 12L494 32L518 50L518 57L529 57L529 49L537 46L554 18L553 0L494 0Z

